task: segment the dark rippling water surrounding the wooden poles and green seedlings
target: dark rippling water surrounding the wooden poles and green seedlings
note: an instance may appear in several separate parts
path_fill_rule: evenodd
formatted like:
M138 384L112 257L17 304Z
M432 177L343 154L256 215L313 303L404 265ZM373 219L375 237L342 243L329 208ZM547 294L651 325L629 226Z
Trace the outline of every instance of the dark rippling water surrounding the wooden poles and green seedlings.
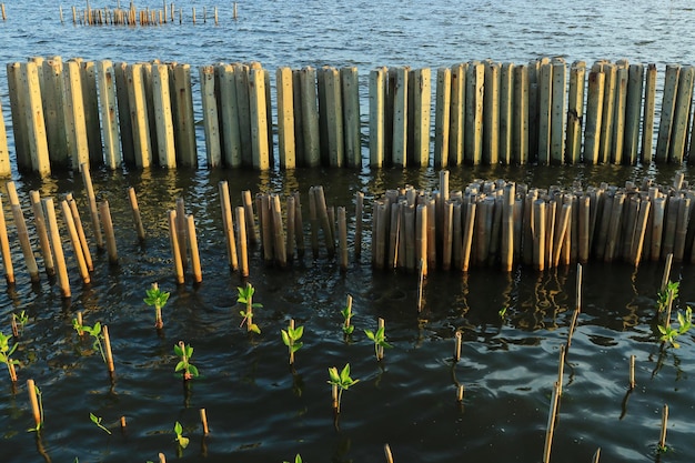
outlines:
M113 7L114 2L109 4ZM426 3L426 4L423 4ZM158 7L161 2L140 2ZM431 66L493 58L525 61L537 56L564 56L568 61L627 58L634 61L688 62L693 50L693 9L682 1L566 2L239 2L232 21L231 2L216 4L221 23L152 28L84 28L61 26L52 2L6 2L9 19L0 23L0 60L60 54L85 59L175 60L191 64L261 61L278 66L354 64L362 74L375 66ZM93 7L99 4L92 3ZM185 2L200 17L214 2ZM69 19L69 6L63 6ZM7 108L4 72L0 97ZM6 109L6 121L9 114ZM9 125L9 124L8 124ZM199 133L202 137L202 133ZM199 139L199 149L203 147ZM204 153L200 153L201 159ZM504 178L533 187L584 184L648 177L669 183L676 168L461 168L451 172L451 188L474 178ZM686 171L686 180L693 181ZM240 192L289 193L303 201L310 185L323 184L332 205L349 210L354 224L354 192L367 204L389 188L406 183L435 188L431 169L360 172L334 170L271 171L117 171L92 172L97 192L108 198L117 233L119 264L95 255L92 283L82 285L66 242L73 296L60 298L54 282L31 285L16 230L17 285L2 285L0 331L9 332L12 312L27 311L29 324L14 358L22 362L13 389L0 373L0 454L3 462L170 461L281 462L301 453L304 461L383 461L389 443L396 462L536 462L543 455L553 383L561 344L575 304L576 270L538 273L515 268L511 274L475 268L469 275L433 272L424 290L425 306L416 313L416 276L372 272L369 232L363 255L342 274L324 253L305 256L286 270L262 264L252 251L251 283L260 335L239 328L235 305L239 275L229 272L224 255L218 182L228 180L234 205ZM79 175L58 173L38 180L17 177L29 214L28 192L62 198L74 192L87 222ZM139 193L147 241L138 243L125 189ZM191 278L174 284L165 213L177 198L194 214L201 249L203 284ZM10 217L6 204L6 217ZM369 231L371 208L366 208ZM308 220L304 220L308 227ZM62 227L62 224L61 224ZM88 227L89 232L89 224ZM553 445L553 461L586 462L597 447L602 461L689 462L693 430L693 349L691 333L679 350L662 350L654 334L654 305L663 263L591 263L584 268L583 312L565 365L564 394ZM681 281L676 309L695 301L689 284L695 269L676 264ZM159 282L171 299L164 330L153 328L153 311L142 299ZM357 326L344 342L339 311L352 294ZM508 308L504 319L498 311ZM91 343L72 329L77 311L87 324L110 329L115 356L111 382ZM384 318L393 349L377 363L363 330ZM304 346L294 371L288 365L280 330L290 318L305 326ZM452 362L454 333L463 333L462 360ZM202 378L184 389L174 376L172 345L183 340L194 348L192 363ZM629 355L636 355L637 387L627 391ZM352 366L360 383L343 395L336 429L331 410L330 366ZM26 380L43 393L46 427L39 439L33 425ZM455 397L465 387L463 403ZM661 409L671 407L667 444L656 453ZM205 407L211 435L202 437L199 409ZM94 413L113 431L109 436L90 420ZM128 426L121 432L120 416ZM178 457L173 424L183 424L191 444Z

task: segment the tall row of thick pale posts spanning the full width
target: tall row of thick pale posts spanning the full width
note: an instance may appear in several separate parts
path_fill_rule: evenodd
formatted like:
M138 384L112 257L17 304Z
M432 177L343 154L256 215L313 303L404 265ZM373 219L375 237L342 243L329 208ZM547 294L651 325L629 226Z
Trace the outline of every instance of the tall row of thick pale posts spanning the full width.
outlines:
M88 161L111 169L198 165L190 66L53 57L7 70L20 171L48 174ZM274 112L271 76L260 63L203 66L198 77L208 167L271 169L275 135L282 169L362 165L356 68L279 68ZM687 157L695 68L666 67L653 150L656 77L656 67L625 60L591 69L562 59L460 63L436 71L432 124L430 69L375 69L369 163L695 161ZM7 175L6 147L0 127L0 174Z

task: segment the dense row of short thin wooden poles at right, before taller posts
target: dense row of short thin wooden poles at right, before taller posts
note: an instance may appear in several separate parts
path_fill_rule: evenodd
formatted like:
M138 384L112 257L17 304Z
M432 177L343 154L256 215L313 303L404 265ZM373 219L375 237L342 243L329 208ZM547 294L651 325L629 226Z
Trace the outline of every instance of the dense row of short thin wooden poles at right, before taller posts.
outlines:
M407 187L387 190L372 214L372 262L376 269L469 271L514 264L537 270L573 262L625 261L637 266L668 254L695 262L693 197L679 173L673 185L645 180L638 188L601 184L562 190L498 180L449 191ZM360 221L360 218L357 218Z

